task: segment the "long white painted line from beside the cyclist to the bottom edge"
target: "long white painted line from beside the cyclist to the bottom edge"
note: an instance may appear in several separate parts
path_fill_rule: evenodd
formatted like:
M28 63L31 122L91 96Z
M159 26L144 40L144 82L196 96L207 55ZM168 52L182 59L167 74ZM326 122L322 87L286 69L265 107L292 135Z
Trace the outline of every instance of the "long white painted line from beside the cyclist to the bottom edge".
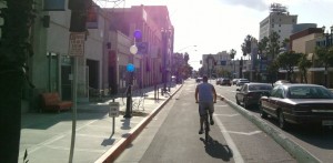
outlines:
M215 121L216 121L218 125L220 126L221 132L226 131L224 125L222 124L222 122L218 118L215 118ZM234 144L233 140L231 139L230 134L228 132L222 132L222 134L223 134L223 136L226 141L226 144L232 150L234 162L244 163L244 160L243 160L238 146Z

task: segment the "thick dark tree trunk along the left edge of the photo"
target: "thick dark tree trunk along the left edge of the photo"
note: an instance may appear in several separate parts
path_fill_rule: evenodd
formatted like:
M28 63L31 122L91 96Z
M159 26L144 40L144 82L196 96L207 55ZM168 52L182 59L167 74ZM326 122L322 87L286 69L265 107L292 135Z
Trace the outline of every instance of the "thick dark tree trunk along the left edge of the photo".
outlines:
M21 131L21 95L27 79L27 60L32 55L30 28L36 18L33 0L2 0L0 40L0 160L18 162ZM9 93L10 92L10 93Z

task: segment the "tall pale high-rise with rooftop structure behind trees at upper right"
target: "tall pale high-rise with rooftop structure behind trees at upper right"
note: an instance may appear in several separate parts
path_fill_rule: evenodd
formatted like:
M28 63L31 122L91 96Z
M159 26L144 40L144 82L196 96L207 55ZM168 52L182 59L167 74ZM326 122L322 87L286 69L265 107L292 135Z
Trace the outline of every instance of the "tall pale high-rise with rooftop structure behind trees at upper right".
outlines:
M297 23L297 16L291 16L286 7L272 3L270 16L260 22L259 41L270 37L272 32L280 35L280 42L292 34L293 26Z

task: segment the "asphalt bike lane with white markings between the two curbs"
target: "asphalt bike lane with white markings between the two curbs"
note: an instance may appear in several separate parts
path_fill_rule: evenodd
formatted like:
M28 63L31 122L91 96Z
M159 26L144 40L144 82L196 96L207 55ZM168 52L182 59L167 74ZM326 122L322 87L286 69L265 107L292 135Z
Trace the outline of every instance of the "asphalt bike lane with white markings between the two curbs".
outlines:
M115 160L122 162L296 162L274 140L223 101L215 104L213 141L199 132L194 80L183 88ZM220 93L222 88L216 90ZM224 91L223 91L224 92Z

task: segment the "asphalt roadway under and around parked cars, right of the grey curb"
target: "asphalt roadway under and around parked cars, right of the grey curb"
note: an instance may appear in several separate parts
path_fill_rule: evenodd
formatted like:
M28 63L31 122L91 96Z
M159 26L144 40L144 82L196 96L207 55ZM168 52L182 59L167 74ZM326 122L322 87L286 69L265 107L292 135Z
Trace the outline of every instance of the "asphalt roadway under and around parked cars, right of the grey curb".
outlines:
M235 103L235 85L219 85L216 86L216 90L220 92L220 94ZM258 106L252 106L249 109L249 111L261 119ZM322 129L317 125L292 125L290 130L282 131L279 129L276 120L268 119L265 120L265 122L270 123L271 126L281 131L283 134L312 153L323 163L333 162L333 130Z

